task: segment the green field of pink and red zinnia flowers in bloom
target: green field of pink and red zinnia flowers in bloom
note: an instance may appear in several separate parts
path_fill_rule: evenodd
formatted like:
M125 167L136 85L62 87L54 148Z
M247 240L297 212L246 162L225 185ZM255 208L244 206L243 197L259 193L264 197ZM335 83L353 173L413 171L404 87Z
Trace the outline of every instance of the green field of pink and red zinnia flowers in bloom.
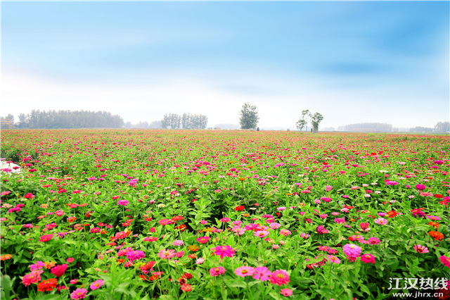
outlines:
M444 135L5 130L1 299L449 299L449 154Z

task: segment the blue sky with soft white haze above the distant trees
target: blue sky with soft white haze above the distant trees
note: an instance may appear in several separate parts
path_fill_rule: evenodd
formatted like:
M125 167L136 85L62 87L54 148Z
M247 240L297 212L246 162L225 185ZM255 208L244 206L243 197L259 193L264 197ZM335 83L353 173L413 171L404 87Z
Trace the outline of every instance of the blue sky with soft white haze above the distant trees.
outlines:
M449 1L1 2L1 115L448 121Z

